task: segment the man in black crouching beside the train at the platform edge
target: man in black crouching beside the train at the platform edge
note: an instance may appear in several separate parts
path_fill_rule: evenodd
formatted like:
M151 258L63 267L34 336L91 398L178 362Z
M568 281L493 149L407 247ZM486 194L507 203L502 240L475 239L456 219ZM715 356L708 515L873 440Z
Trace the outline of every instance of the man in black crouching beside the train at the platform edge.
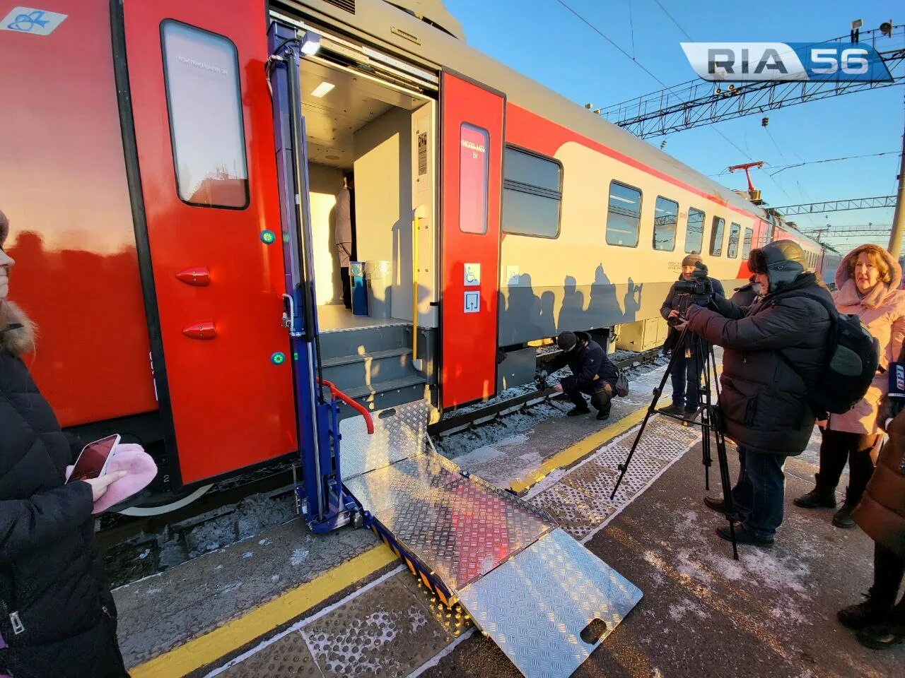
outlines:
M567 365L572 371L571 377L553 387L554 391L565 393L575 405L567 412L568 416L576 417L591 411L583 395L587 393L597 410L597 419L603 421L609 417L618 374L604 349L586 332L563 332L557 337L557 346L562 353L548 363L547 371L556 372Z

